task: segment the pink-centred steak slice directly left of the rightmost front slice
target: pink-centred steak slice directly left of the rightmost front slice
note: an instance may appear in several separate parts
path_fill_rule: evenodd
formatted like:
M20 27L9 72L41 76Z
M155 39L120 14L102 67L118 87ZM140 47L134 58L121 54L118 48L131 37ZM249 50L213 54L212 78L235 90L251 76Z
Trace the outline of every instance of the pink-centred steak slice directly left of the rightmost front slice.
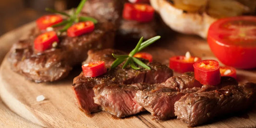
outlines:
M232 77L221 77L218 86L200 85L194 78L194 72L186 72L181 76L169 78L161 86L173 88L173 91L147 90L137 91L135 100L158 120L167 120L174 115L174 103L186 93L206 92L216 90L227 85L237 85L237 81ZM196 87L193 87L196 85ZM200 88L200 86L202 86ZM182 87L182 90L180 88ZM193 87L193 88L192 88Z

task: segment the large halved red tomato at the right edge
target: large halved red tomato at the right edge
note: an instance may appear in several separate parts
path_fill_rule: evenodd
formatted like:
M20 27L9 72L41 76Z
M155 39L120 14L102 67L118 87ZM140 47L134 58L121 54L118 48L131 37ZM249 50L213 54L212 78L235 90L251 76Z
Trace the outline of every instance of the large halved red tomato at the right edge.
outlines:
M225 65L241 69L256 68L256 17L238 16L212 23L208 44Z

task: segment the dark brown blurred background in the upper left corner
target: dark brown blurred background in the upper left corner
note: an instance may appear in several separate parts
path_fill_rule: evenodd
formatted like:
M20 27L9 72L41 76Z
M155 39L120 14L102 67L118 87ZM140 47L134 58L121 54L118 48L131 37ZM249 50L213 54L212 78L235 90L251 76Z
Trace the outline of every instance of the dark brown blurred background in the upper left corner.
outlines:
M0 35L48 14L46 7L63 11L80 0L0 0Z

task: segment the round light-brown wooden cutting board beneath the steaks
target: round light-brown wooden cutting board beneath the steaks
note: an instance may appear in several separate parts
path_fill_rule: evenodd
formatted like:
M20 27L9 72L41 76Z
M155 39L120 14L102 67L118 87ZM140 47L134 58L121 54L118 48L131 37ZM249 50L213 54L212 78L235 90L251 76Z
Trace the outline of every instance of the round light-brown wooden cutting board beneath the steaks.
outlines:
M33 26L34 24L30 24ZM23 29L23 32L29 27ZM2 47L7 50L17 41L20 33L13 31L9 39L0 40ZM134 43L135 44L135 43ZM130 50L128 44L116 46L122 50ZM153 59L163 64L168 64L168 58L173 55L184 55L190 51L192 55L203 59L214 58L207 42L197 36L182 35L170 32L170 36L160 39L151 47L145 49L153 55ZM3 52L4 53L4 52ZM0 58L3 54L0 55ZM107 112L99 112L92 117L85 116L75 105L71 89L73 78L80 73L80 67L74 68L64 80L52 83L35 83L27 81L23 76L10 69L7 58L4 58L0 67L0 96L3 102L16 114L43 127L83 127L83 128L187 128L187 125L178 119L168 121L152 120L147 113L137 114L123 119L116 119ZM256 82L256 70L238 70L240 83L246 81ZM44 95L46 100L37 102L38 95ZM230 128L230 127L256 127L256 109L253 107L242 115L221 117L199 128Z

